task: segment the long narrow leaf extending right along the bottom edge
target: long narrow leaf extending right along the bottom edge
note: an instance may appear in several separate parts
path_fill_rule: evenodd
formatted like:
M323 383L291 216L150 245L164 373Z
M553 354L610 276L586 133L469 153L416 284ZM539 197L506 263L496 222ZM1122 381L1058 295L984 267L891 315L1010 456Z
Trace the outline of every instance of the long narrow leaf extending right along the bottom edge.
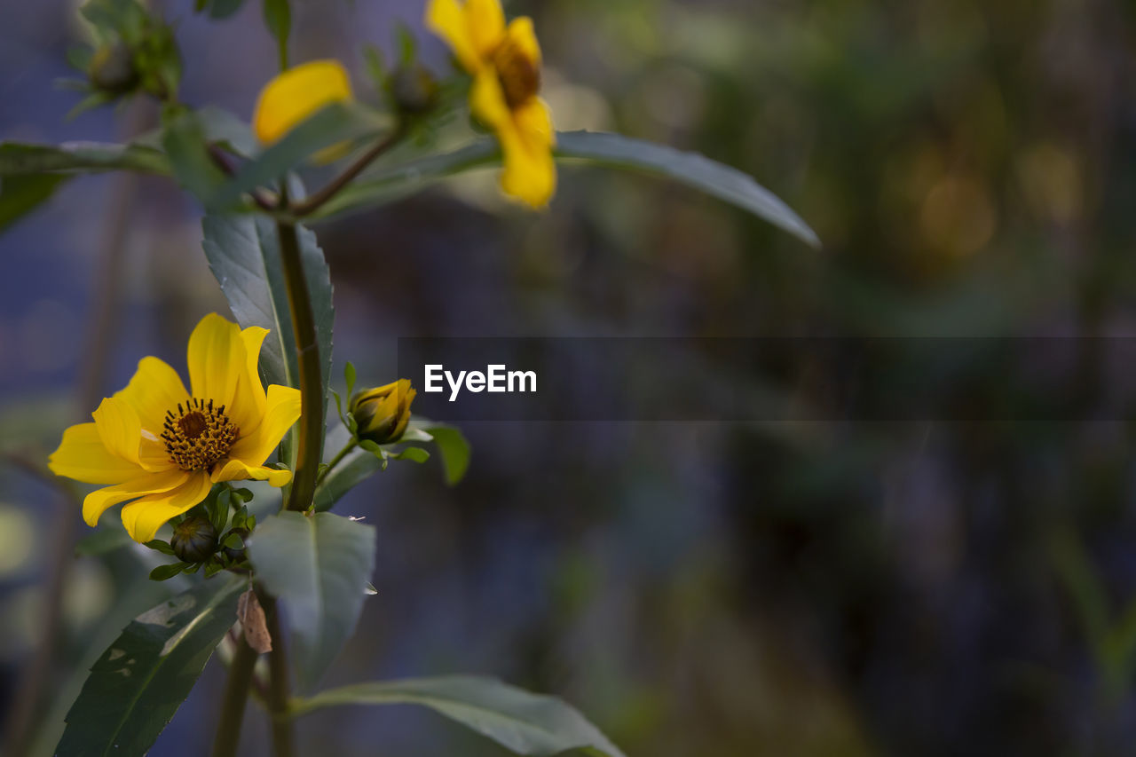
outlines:
M569 749L591 749L593 754L623 757L623 752L570 705L496 679L448 675L359 683L294 700L292 713L302 715L339 705L421 705L518 755L551 757Z

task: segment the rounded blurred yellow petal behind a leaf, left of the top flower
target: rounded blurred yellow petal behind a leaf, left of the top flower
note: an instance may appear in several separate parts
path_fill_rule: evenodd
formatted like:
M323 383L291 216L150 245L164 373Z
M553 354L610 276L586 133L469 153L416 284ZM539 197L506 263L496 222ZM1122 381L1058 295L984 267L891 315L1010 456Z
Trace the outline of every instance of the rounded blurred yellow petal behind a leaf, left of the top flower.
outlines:
M265 85L252 116L252 130L264 144L272 144L324 107L351 98L351 80L337 60L312 60Z

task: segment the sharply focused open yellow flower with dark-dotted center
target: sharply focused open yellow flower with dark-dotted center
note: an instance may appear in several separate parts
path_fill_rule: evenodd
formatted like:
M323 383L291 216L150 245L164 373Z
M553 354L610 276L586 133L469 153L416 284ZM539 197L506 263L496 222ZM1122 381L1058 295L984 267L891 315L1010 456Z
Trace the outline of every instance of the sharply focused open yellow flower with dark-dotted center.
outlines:
M102 400L92 416L64 432L51 454L53 473L85 483L111 484L83 500L83 519L119 502L123 525L135 541L185 513L219 481L256 479L283 486L291 471L264 467L281 438L300 417L300 392L273 384L265 392L257 373L268 330L241 330L217 314L190 335L190 386L156 357L139 363L131 382Z

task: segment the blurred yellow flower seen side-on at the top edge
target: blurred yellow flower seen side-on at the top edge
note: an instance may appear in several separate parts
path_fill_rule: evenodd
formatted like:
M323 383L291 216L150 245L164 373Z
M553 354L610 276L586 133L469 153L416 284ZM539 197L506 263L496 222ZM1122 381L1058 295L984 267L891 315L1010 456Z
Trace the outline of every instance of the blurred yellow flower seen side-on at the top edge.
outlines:
M504 24L499 0L431 0L426 23L444 39L474 76L469 106L501 142L501 189L534 208L557 185L552 161L556 133L541 88L541 47L533 20Z

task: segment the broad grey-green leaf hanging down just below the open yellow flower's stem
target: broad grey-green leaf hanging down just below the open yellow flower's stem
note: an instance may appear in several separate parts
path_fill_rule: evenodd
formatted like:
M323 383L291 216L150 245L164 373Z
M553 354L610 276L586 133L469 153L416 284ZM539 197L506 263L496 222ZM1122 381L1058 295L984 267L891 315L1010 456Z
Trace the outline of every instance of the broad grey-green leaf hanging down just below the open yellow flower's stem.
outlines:
M375 568L375 527L331 513L284 511L249 540L257 576L287 607L296 679L310 691L351 637Z

